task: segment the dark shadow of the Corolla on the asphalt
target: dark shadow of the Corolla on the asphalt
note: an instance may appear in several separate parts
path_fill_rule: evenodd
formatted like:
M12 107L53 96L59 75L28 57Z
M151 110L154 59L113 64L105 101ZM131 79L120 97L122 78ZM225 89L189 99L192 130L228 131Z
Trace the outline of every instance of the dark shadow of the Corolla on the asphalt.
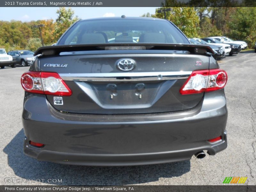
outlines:
M37 161L23 153L23 140L24 132L22 129L4 148L4 153L8 155L9 166L15 175L21 179L33 181L44 179L44 183L47 184L129 185L158 181L159 178L178 177L190 171L189 160L122 167L77 166ZM61 179L62 182L52 183L47 181L48 179Z

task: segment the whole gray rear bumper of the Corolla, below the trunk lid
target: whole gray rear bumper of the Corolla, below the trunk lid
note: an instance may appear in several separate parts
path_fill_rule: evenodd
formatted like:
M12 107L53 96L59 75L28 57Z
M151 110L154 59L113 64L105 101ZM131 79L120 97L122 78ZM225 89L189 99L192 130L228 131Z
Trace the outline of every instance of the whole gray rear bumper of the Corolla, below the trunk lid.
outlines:
M26 93L24 152L38 160L100 166L182 161L202 150L215 155L227 148L227 115L224 90L205 93L189 110L135 115L63 113L44 95ZM207 141L219 136L220 142Z

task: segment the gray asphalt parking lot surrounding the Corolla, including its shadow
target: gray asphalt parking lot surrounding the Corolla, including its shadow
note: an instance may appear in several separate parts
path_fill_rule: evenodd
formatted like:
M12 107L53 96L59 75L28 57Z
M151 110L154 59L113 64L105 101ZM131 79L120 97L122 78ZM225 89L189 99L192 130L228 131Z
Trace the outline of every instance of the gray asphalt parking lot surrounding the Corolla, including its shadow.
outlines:
M25 156L20 76L29 67L0 69L0 184L29 184L5 182L5 178L17 178L45 180L33 185L222 185L225 177L248 177L245 184L256 185L255 61L254 51L219 61L228 73L226 150L204 159L193 156L190 161L130 167L62 165ZM48 179L62 182L50 183Z

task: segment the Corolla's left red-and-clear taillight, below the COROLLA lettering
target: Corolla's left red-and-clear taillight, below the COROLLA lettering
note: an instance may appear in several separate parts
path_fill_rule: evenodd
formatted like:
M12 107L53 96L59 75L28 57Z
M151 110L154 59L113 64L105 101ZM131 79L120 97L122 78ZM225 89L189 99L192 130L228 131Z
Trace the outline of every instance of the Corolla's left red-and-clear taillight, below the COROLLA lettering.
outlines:
M28 71L21 76L20 81L23 89L27 92L59 96L72 94L58 73Z

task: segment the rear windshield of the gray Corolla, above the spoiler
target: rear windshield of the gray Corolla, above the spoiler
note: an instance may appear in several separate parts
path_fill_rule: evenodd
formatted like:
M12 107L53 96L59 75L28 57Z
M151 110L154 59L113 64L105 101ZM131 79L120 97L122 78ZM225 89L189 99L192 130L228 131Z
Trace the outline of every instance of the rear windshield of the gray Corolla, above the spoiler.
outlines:
M189 44L189 41L166 20L99 19L78 21L58 44L110 43Z

